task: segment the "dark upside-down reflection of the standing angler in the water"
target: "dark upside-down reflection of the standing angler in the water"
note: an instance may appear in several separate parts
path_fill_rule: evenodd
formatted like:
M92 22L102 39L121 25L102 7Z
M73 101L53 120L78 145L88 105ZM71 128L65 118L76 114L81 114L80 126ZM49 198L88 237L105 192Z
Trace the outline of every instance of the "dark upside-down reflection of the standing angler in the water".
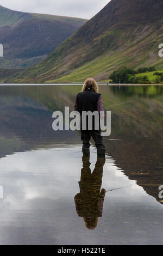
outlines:
M80 193L74 197L74 201L78 216L84 218L86 228L93 230L97 227L98 217L102 217L106 193L104 188L101 190L105 157L98 157L92 173L90 157L83 156L82 160L83 168L79 181Z

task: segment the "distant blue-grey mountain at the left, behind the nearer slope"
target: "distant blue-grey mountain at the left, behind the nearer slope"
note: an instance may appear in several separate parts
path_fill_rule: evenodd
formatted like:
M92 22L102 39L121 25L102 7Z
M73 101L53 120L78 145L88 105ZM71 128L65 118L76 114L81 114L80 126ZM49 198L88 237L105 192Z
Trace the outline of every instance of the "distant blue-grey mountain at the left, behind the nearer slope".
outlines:
M4 46L0 68L35 65L85 22L73 17L13 11L0 5L0 43Z

